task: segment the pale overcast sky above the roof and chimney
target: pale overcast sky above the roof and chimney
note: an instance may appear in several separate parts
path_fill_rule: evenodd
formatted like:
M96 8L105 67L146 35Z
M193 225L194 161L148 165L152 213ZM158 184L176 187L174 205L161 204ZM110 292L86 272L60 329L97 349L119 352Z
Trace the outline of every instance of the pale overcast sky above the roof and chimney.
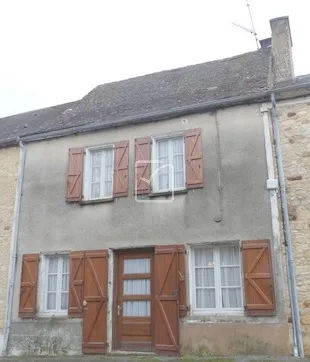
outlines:
M310 73L310 0L249 0L259 39L289 15L295 74ZM95 86L256 49L246 0L0 0L0 117Z

